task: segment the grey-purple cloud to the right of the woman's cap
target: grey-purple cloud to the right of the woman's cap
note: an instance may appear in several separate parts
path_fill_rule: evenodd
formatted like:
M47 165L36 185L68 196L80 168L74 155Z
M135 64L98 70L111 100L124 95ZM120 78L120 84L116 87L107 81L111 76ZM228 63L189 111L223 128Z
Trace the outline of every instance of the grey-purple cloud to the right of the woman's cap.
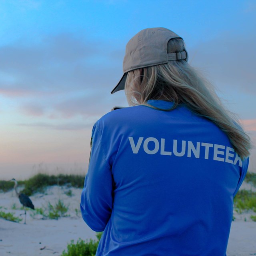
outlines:
M192 66L210 72L217 85L256 94L256 34L222 32L190 50Z

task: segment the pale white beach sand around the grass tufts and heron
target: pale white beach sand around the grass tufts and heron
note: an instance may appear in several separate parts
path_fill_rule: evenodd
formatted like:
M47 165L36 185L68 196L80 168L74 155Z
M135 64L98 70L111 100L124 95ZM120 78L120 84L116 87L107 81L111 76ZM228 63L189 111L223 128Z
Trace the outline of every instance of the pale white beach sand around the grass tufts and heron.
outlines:
M247 186L247 187L246 187ZM244 188L250 189L250 185L244 184ZM72 190L73 196L67 196L64 192ZM86 240L96 239L92 231L76 214L79 211L81 189L52 186L45 194L30 196L36 208L47 206L48 202L55 204L63 200L68 205L69 217L58 220L42 219L41 215L30 216L33 210L27 212L27 224L10 222L0 219L0 255L37 256L60 255L67 248L70 240L75 242L78 238ZM14 191L0 193L0 206L5 212L14 212L16 216L23 210L12 210L13 204L20 208L20 202ZM78 212L79 214L80 212ZM237 214L232 222L227 256L251 256L256 255L256 222L250 220L253 212ZM24 215L21 216L22 218ZM246 221L244 219L246 218Z

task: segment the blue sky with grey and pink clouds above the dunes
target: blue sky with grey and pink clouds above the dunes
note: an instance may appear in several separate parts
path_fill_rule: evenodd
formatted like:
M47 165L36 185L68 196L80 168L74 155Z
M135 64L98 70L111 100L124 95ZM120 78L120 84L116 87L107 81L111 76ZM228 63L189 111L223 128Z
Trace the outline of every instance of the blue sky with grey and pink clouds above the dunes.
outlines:
M93 124L128 106L110 92L144 28L182 36L256 144L254 0L0 0L0 24L0 179L87 171Z

